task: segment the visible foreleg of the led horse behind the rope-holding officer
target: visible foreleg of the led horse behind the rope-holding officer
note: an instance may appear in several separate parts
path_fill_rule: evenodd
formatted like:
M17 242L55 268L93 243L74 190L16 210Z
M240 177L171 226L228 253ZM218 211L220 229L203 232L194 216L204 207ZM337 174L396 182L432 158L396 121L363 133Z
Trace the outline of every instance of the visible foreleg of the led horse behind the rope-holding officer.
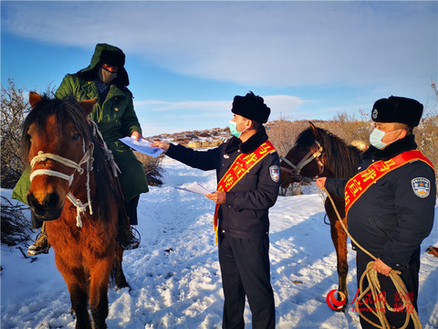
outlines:
M336 206L340 210L339 215L343 216L343 204L338 204ZM339 218L336 215L328 199L326 200L325 207L328 219L330 220L331 240L333 242L333 246L335 247L337 256L337 270L339 280L338 292L342 292L346 298L344 305L342 306L342 308L339 309L339 311L345 312L347 303L349 301L349 289L347 287L347 274L349 273L349 262L347 260L347 233L342 228L342 225L339 222ZM347 226L345 218L342 218L342 221ZM341 299L342 297L338 295L338 300L340 301Z

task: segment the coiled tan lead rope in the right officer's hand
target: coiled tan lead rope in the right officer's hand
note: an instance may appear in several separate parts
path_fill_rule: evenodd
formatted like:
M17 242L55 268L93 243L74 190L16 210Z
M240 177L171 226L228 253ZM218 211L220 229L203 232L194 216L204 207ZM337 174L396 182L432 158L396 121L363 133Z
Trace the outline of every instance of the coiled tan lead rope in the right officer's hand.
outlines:
M355 239L353 239L353 237L351 237L351 235L349 234L349 230L345 227L345 224L342 222L342 218L340 218L338 208L335 206L335 202L333 201L331 196L328 194L327 189L323 186L322 190L324 192L326 192L328 199L330 200L331 205L333 206L333 209L335 210L336 215L338 216L340 224L342 225L342 228L344 228L345 233L347 233L347 235L349 236L349 239L351 239L351 241L353 241L354 244L356 246L358 246L363 252L365 252L367 255L369 255L370 258L372 258L373 260L376 260L376 257L374 255L372 255L367 249L364 249L362 246L360 246L360 244ZM412 322L414 324L415 329L421 329L422 324L420 322L420 318L418 316L418 313L415 311L414 308L412 308L412 309L409 308L409 305L412 305L412 302L408 298L406 286L404 285L403 281L401 281L401 278L400 278L401 271L391 270L391 272L390 272L391 281L394 284L395 289L399 293L399 296L401 297L401 300L402 300L401 307L392 308L390 305L388 305L386 303L386 301L381 301L381 298L379 298L379 295L381 294L381 283L380 283L378 275L377 275L378 272L372 268L373 265L374 265L374 261L370 261L367 265L367 269L363 272L362 276L360 277L360 286L359 286L360 295L358 296L358 298L356 299L356 302L355 302L356 310L358 310L359 315L362 317L362 319L364 319L368 323L374 325L376 328L394 329L394 327L388 323L388 319L386 318L386 315L385 315L385 308L386 308L390 312L406 313L406 320L405 320L404 324L400 328L397 328L397 329L405 329L408 326L410 319L412 319ZM368 280L369 286L364 290L363 289L363 282L365 279ZM374 308L370 307L370 304L368 302L366 302L366 300L363 302L363 304L365 304L365 306L367 306L367 308L370 309L371 313L373 313L374 315L376 315L379 318L379 321L381 324L375 324L368 317L366 317L365 314L360 312L359 301L364 299L364 297L369 292L371 292L371 294L372 294L372 301L375 302L375 307Z

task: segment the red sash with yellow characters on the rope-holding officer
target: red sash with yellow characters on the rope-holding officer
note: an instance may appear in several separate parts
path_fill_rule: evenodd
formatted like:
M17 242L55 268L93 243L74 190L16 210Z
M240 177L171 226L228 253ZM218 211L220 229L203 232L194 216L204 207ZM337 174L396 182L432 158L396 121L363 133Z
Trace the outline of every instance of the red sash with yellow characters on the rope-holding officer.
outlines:
M347 216L349 208L365 193L365 191L381 177L388 174L394 169L401 167L404 164L410 163L413 160L420 160L429 164L433 168L432 162L425 157L420 151L407 151L397 156L394 156L387 161L378 161L371 164L366 170L353 176L345 186L345 215ZM434 170L434 169L433 169Z

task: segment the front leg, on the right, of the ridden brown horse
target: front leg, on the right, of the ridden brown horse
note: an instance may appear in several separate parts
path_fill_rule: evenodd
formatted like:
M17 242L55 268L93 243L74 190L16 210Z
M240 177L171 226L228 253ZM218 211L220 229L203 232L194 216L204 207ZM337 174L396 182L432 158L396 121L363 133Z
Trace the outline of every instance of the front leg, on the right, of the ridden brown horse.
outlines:
M112 258L97 260L90 271L89 308L93 317L93 329L106 329L108 316L108 286Z

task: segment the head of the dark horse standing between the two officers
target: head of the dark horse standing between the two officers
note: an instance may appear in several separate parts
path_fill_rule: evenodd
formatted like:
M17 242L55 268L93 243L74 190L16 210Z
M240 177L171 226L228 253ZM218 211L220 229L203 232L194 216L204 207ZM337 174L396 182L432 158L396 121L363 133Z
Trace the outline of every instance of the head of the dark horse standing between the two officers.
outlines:
M286 156L281 156L280 185L286 188L291 183L308 181L309 177L324 175L325 150L319 129L312 122L310 127L300 133L295 146Z

